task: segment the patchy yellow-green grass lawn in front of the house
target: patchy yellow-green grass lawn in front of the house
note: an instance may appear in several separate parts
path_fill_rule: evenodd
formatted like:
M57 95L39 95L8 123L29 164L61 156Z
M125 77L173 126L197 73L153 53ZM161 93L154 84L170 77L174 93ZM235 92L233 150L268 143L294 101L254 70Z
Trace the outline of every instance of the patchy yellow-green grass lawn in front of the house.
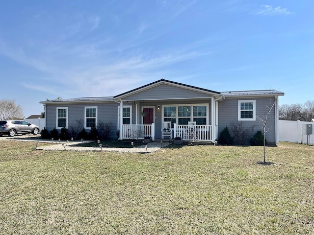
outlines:
M1 235L314 234L314 146L34 147L0 141Z

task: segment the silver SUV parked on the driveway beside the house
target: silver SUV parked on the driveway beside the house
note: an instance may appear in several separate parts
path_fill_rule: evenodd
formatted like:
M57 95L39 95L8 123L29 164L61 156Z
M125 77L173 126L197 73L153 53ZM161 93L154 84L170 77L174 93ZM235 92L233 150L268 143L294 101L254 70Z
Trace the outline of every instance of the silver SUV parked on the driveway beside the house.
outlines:
M28 133L37 135L39 133L39 127L24 120L0 121L0 136L6 134L13 137L18 134L26 135Z

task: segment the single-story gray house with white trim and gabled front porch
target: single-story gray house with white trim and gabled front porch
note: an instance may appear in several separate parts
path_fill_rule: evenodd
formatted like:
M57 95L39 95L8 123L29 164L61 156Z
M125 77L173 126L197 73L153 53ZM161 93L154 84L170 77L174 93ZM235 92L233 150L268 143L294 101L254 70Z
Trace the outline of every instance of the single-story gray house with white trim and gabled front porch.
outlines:
M113 137L120 140L163 137L164 124L170 123L170 138L215 142L218 133L232 121L261 130L257 116L268 112L268 143L278 143L278 97L275 90L215 92L165 79L152 82L113 97L88 97L46 100L46 128L69 128L78 120L88 130L102 121L111 123ZM193 126L191 126L191 124ZM192 131L191 131L192 130Z

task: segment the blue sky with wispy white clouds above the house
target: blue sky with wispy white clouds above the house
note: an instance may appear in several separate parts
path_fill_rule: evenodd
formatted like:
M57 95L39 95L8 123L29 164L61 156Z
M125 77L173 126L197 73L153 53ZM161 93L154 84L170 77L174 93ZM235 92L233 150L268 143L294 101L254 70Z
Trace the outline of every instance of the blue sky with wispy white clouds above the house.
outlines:
M0 99L112 96L161 78L314 100L313 0L1 0Z

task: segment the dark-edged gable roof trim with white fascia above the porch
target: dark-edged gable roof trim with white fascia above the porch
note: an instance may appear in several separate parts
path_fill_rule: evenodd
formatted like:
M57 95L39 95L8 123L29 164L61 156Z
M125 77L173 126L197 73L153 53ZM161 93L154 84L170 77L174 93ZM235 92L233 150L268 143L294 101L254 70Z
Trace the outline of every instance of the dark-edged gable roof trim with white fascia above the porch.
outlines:
M194 86L186 85L186 84L179 83L179 82L173 82L173 81L169 81L169 80L165 80L165 79L160 79L158 81L149 83L149 84L141 86L139 88L135 88L135 89L133 89L131 91L115 95L115 96L113 96L113 98L114 99L122 98L122 97L125 97L125 96L128 96L128 95L131 95L131 94L134 94L134 93L137 93L137 92L149 89L151 87L154 87L154 86L157 86L157 85L160 85L160 84L168 84L168 85L178 86L178 87L182 87L182 88L186 88L186 89L190 89L190 90L194 90L194 91L199 91L199 92L205 92L205 93L214 94L214 95L219 95L220 94L220 92L215 92L215 91L211 91L211 90L200 88L200 87L194 87Z

